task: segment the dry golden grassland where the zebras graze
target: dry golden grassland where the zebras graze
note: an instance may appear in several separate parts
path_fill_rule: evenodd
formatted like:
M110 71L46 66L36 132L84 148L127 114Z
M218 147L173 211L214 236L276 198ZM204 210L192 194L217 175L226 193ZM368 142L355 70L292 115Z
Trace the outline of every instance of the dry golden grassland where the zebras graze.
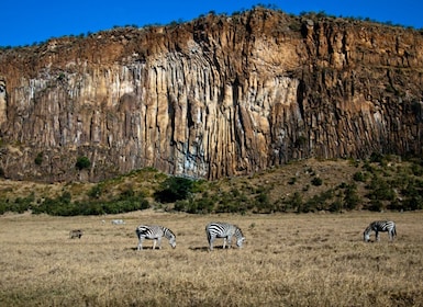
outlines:
M124 225L112 225L123 218ZM376 219L398 237L363 242ZM1 306L423 306L423 213L0 216ZM208 251L211 220L237 224L243 249ZM162 250L135 227L177 236ZM81 239L69 239L81 228ZM375 237L372 235L371 239Z

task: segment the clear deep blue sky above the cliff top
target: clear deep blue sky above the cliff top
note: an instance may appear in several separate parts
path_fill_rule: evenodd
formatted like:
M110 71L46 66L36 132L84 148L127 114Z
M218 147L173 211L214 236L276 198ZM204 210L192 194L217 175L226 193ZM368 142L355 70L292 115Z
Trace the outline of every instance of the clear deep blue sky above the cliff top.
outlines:
M0 46L32 45L52 37L94 33L116 25L165 25L172 21L190 21L210 11L232 14L257 4L270 4L293 14L324 11L335 16L369 18L423 27L422 0L3 0Z

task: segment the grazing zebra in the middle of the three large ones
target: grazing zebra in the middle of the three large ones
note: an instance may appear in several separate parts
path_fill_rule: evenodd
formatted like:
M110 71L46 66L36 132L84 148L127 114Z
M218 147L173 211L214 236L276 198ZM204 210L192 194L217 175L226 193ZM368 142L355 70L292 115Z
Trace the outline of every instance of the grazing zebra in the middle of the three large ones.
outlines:
M233 236L236 237L236 246L238 248L243 247L243 242L245 240L240 227L229 223L210 223L205 226L205 234L209 240L210 250L213 250L213 242L215 238L223 238L223 249L226 246L226 239L227 248L231 248L231 241Z

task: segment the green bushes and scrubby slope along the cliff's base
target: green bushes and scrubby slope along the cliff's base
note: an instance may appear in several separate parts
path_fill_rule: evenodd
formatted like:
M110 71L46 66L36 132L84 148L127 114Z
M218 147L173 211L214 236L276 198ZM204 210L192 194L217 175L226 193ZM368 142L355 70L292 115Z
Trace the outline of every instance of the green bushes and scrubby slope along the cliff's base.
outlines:
M87 160L81 159L82 169ZM218 181L170 177L146 168L99 183L64 183L54 189L8 184L12 183L4 181L0 187L0 214L101 215L151 207L190 214L423 209L422 159L380 154L363 161L296 161Z

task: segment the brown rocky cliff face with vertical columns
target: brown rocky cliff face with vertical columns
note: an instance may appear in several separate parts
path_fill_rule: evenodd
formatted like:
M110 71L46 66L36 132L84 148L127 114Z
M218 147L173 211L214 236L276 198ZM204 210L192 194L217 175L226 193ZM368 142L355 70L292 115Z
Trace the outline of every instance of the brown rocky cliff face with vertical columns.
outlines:
M143 167L216 179L421 155L422 83L416 31L260 8L49 39L0 52L0 167L44 181Z

